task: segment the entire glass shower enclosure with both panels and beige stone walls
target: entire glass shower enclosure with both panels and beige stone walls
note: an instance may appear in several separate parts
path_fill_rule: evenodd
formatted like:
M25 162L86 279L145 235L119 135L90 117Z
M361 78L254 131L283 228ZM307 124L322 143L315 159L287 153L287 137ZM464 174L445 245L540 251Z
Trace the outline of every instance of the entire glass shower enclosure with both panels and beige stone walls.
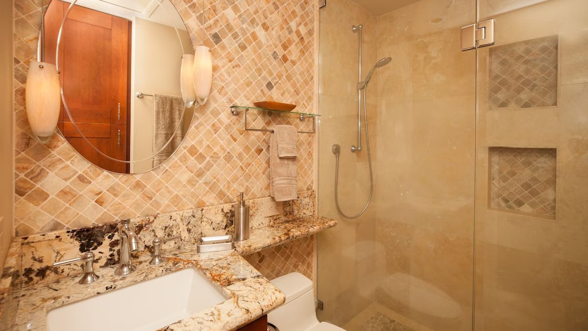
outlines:
M319 319L588 329L588 1L379 2L319 11L318 207L339 221L318 235ZM461 28L487 19L495 44L462 51ZM369 161L373 197L347 219Z

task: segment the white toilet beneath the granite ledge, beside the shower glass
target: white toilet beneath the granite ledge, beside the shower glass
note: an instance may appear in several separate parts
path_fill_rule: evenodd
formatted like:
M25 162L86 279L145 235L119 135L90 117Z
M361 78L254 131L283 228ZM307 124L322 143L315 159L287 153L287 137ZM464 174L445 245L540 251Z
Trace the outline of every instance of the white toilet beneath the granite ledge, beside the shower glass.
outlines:
M279 331L345 331L316 319L312 280L301 273L289 273L271 281L286 294L286 302L268 314L268 323ZM268 328L268 330L271 330Z

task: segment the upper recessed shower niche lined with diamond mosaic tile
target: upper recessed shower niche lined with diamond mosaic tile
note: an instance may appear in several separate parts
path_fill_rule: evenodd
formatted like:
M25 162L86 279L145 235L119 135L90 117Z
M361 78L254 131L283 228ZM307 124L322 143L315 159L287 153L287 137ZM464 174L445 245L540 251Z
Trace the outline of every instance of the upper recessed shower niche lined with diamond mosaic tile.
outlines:
M490 48L490 109L557 105L558 36Z

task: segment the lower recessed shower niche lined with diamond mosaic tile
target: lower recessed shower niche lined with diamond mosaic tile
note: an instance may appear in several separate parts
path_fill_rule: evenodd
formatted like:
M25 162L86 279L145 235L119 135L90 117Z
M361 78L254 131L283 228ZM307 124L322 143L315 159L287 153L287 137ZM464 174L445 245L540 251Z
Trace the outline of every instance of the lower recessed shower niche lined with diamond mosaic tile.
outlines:
M489 148L490 208L555 219L555 148Z

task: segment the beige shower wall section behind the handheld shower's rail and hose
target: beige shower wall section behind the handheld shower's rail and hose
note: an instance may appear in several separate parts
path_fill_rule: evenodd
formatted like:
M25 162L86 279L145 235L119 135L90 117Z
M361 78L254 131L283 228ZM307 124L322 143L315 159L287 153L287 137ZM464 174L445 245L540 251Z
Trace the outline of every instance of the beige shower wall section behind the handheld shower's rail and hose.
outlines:
M363 151L353 154L358 127L358 34L352 25L363 24L362 75L376 62L376 18L350 0L329 1L320 9L319 47L319 214L339 220L338 225L318 235L318 297L325 302L319 312L324 321L344 326L375 299L373 275L375 203L355 220L340 216L335 207L335 155L341 146L339 203L344 213L362 210L369 196L369 168L365 130ZM376 84L370 82L370 145L376 167ZM363 116L363 115L362 115Z

